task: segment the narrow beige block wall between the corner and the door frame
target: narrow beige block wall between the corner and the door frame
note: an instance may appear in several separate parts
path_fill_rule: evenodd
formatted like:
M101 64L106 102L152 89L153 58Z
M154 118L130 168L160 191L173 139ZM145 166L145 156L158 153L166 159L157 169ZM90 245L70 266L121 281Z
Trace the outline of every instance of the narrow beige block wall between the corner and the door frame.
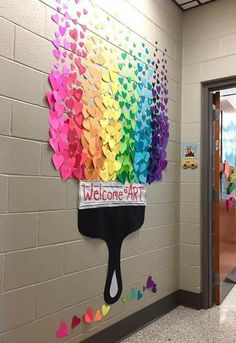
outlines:
M236 1L184 13L182 142L201 149L201 82L236 75ZM180 288L201 291L200 168L181 170Z

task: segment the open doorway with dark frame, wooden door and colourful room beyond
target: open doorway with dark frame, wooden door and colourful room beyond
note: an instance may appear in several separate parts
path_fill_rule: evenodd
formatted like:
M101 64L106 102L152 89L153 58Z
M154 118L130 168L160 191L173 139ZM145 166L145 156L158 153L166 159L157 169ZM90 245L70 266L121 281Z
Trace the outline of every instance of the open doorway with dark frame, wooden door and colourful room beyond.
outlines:
M209 308L236 284L236 80L204 84L202 113L202 306Z

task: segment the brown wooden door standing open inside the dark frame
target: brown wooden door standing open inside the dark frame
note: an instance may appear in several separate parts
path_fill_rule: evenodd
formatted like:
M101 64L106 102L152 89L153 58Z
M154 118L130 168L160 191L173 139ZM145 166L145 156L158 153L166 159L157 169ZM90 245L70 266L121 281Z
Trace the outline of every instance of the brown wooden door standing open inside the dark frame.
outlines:
M222 118L220 92L215 92L213 94L213 294L216 305L223 301L234 286L233 283L226 280L236 267L235 206L227 210L226 199L222 192L223 178L227 179L225 177L225 161L222 161L221 158Z

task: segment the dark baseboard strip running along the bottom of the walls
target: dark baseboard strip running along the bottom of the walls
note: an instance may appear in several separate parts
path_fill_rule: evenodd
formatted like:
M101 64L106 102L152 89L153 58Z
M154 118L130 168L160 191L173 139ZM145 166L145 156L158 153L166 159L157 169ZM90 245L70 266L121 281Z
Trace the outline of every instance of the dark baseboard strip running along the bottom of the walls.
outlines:
M176 291L165 298L162 298L142 310L122 319L116 324L111 325L97 334L85 339L85 343L117 343L132 335L141 328L149 325L154 320L164 316L172 311L178 305L201 308L201 294L187 292L183 290Z

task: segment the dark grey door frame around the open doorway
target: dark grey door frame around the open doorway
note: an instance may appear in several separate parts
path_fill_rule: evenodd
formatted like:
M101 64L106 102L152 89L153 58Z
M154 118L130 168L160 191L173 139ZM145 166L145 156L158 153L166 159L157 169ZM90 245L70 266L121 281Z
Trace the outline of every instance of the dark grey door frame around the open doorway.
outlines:
M236 76L202 83L202 168L201 168L201 213L202 213L202 307L213 306L213 118L210 93L236 87Z

